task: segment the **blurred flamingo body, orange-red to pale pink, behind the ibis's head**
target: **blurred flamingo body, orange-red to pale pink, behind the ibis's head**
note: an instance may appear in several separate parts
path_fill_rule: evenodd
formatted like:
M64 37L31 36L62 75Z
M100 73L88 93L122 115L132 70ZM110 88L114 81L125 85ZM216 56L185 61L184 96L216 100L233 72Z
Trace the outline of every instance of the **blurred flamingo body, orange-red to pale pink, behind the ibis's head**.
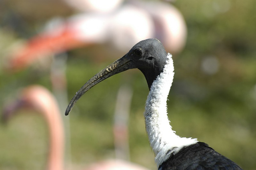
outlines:
M164 2L129 1L114 9L50 22L44 32L13 50L7 67L22 69L40 57L92 44L111 44L115 51L124 53L136 42L153 37L172 53L184 47L186 24L174 6Z

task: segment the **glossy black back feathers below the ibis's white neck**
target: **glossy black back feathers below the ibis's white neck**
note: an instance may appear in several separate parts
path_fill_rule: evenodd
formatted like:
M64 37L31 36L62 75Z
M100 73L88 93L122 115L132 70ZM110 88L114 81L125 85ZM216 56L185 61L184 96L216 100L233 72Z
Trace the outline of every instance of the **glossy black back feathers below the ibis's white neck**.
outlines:
M163 162L158 170L241 170L236 163L210 148L208 144L197 142L182 148Z

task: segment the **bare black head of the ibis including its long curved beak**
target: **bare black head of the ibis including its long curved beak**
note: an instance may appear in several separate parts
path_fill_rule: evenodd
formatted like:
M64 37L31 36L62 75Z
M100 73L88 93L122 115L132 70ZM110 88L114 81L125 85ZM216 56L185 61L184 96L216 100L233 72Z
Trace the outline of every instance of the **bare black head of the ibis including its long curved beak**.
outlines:
M138 68L145 76L150 89L153 81L163 71L167 60L167 53L162 43L157 39L147 39L138 42L120 59L108 65L102 71L94 75L87 81L70 101L65 115L68 115L74 104L80 99L86 91L104 79L126 71L128 69Z

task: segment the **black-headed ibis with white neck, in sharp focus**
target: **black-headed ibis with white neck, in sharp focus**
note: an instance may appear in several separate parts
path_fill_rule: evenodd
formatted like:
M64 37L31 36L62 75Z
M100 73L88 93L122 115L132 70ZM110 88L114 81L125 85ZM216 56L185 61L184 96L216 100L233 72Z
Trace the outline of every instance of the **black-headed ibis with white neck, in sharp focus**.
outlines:
M91 87L122 71L138 68L144 74L150 92L144 118L150 146L159 170L171 169L241 169L207 144L182 138L170 126L166 101L174 76L172 55L156 39L143 40L123 57L92 77L71 100L66 115L76 101Z

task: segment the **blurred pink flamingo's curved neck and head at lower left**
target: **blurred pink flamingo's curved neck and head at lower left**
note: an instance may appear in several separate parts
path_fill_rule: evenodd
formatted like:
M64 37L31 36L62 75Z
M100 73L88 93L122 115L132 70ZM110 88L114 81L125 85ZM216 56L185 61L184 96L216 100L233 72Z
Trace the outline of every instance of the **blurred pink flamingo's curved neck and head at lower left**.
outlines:
M7 106L3 112L3 119L7 121L15 111L21 107L34 109L42 114L49 127L49 156L48 170L63 170L64 163L64 129L57 101L46 88L39 85L31 85L22 90L15 103Z

